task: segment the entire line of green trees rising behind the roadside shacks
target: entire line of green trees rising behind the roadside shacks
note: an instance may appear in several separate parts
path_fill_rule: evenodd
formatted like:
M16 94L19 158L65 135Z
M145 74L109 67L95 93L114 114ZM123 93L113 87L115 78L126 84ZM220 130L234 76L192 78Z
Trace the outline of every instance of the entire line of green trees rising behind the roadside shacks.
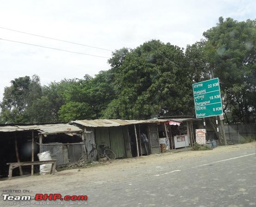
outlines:
M226 121L255 122L256 20L220 17L203 37L186 49L159 40L121 48L95 77L44 86L37 75L15 78L4 90L0 122L194 115L192 84L212 77L220 80Z

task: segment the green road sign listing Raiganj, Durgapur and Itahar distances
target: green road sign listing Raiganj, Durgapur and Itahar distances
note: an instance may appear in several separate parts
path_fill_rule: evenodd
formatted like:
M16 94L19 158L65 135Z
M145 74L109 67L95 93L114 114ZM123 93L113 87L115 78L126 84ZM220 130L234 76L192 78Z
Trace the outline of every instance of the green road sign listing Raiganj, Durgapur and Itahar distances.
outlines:
M219 78L193 84L196 118L223 114Z

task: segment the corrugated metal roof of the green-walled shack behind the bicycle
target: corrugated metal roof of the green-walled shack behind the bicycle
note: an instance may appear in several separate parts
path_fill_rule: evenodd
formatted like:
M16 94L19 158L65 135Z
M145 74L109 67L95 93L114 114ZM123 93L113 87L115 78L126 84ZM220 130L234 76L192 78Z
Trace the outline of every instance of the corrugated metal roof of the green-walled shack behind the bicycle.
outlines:
M168 119L169 120L169 119ZM146 123L160 123L166 122L167 119L148 119L148 120L121 120L121 119L94 119L94 120L76 120L71 121L70 124L81 124L87 127L112 127L112 126L124 126L130 124L146 124Z

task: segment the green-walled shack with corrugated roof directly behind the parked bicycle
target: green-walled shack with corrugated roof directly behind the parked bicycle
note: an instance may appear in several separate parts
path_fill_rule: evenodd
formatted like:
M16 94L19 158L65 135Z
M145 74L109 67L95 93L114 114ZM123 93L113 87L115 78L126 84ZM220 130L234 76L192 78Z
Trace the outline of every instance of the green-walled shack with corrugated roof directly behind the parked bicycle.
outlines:
M131 158L160 153L158 123L157 119L86 119L72 121L69 124L85 132L92 132L85 134L87 155L92 150L93 143L98 149L100 146L111 148L117 158Z

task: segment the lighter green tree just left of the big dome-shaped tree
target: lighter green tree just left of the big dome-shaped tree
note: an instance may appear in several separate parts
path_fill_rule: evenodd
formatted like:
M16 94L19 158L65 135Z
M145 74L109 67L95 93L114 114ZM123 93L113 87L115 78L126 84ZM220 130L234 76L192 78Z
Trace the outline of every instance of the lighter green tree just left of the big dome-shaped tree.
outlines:
M58 114L60 120L100 118L115 94L112 71L100 71L94 78L86 75L83 79L69 84L65 91L65 104Z

